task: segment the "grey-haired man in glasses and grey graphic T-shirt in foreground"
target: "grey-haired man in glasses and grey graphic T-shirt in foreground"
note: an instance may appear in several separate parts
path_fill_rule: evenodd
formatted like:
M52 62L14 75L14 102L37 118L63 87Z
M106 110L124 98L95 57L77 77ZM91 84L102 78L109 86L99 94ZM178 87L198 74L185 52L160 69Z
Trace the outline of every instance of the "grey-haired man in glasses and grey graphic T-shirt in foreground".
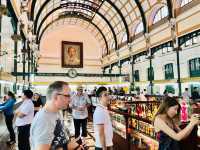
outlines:
M78 139L69 142L70 135L64 129L59 111L70 103L67 82L56 81L49 85L45 106L36 114L31 125L31 150L67 150L79 147Z

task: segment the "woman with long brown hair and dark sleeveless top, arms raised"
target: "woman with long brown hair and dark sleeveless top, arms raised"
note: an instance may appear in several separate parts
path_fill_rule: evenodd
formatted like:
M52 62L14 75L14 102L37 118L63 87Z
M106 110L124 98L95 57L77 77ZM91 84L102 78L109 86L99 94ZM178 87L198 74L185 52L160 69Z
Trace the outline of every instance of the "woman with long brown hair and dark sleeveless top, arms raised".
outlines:
M200 123L199 119L192 115L190 123L181 130L177 124L177 120L180 121L180 109L180 104L173 97L166 97L160 105L154 120L159 150L180 150L178 141L188 136L194 126Z

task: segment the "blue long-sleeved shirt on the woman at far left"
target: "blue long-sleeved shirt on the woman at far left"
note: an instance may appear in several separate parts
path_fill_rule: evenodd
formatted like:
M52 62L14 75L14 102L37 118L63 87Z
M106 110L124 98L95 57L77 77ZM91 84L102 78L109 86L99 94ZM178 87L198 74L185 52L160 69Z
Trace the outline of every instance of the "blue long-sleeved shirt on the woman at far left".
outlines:
M16 100L13 98L9 98L5 103L0 104L0 110L3 110L4 115L9 116L13 115L13 106Z

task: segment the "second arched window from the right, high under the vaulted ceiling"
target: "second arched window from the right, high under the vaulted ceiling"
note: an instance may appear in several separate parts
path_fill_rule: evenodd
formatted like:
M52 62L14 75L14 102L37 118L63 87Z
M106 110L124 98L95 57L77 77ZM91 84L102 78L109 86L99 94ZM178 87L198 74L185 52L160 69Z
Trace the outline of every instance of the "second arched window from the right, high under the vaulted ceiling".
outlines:
M153 24L155 24L156 22L160 21L161 19L165 18L168 16L168 9L167 6L163 6L162 8L160 8L158 10L158 12L156 13L154 19L153 19Z

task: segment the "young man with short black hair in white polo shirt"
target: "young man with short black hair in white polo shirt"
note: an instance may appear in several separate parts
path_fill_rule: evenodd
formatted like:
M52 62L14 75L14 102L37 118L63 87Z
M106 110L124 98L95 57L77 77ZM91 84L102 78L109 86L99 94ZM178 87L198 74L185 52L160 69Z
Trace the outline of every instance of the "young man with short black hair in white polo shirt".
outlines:
M95 150L112 150L113 128L109 111L107 110L110 99L107 89L99 87L96 96L99 97L99 104L93 114Z

